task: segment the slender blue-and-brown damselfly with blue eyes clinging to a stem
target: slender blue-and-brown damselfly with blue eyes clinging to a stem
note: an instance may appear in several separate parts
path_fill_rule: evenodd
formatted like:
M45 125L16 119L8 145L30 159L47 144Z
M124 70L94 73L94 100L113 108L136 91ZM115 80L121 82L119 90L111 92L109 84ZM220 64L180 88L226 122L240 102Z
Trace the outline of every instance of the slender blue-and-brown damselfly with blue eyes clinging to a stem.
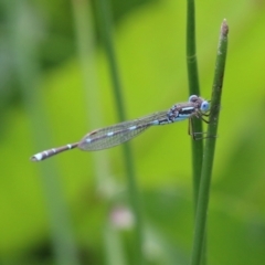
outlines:
M93 130L92 132L84 136L81 141L38 152L31 157L31 160L41 161L56 153L76 147L84 151L107 149L132 139L153 125L172 124L184 119L191 120L192 117L202 119L203 121L208 123L204 117L208 116L209 110L209 100L192 95L189 97L189 102L176 104L169 110L155 113L138 119L124 121L106 128Z

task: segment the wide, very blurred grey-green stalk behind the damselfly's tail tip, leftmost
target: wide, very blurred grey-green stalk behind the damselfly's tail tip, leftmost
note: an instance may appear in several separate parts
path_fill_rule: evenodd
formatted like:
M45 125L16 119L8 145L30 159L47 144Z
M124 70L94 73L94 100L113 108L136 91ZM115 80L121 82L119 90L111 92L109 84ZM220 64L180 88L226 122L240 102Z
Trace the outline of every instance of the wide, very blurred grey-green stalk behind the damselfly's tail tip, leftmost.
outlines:
M40 65L36 60L38 34L34 26L38 17L26 1L19 1L15 8L9 9L11 22L11 42L15 59L15 70L20 82L22 100L30 118L32 141L39 148L40 144L49 141L49 123L40 91ZM43 128L43 129L40 129ZM38 148L38 149L39 149ZM32 167L34 167L32 165ZM67 206L59 180L59 170L53 161L39 166L42 188L46 199L53 252L56 264L78 264Z

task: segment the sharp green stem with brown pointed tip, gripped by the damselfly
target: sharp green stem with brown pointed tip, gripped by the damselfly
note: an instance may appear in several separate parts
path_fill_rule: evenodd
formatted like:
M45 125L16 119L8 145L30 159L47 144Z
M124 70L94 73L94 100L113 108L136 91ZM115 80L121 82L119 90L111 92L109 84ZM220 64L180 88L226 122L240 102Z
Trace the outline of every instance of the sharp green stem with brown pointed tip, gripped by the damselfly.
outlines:
M206 213L210 197L211 176L214 158L214 149L218 132L219 112L221 105L221 95L223 86L223 76L227 50L227 33L229 26L224 20L221 25L221 33L218 47L216 65L212 89L212 102L210 112L210 124L208 127L208 136L205 140L205 151L202 162L201 183L198 198L198 208L195 215L195 231L193 239L193 248L191 256L191 265L199 265L201 259L201 253L203 248L203 240L205 236L206 226Z

